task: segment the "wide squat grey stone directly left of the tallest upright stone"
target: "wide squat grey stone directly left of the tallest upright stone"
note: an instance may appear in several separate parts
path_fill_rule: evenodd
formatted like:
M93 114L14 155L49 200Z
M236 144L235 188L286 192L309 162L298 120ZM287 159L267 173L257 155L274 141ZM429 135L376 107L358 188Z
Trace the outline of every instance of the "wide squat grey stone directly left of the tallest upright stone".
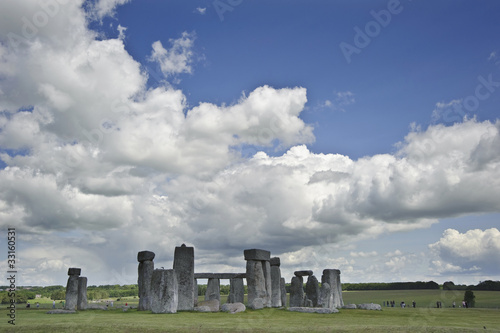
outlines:
M176 313L179 305L177 275L173 269L155 269L151 278L151 311Z

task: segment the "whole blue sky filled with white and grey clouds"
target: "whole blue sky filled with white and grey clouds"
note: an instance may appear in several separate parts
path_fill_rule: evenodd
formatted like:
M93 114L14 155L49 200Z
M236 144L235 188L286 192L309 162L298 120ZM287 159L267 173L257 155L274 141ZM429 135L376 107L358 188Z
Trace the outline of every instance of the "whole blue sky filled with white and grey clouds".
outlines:
M498 2L47 3L0 5L24 284L134 283L181 243L197 271L498 279Z

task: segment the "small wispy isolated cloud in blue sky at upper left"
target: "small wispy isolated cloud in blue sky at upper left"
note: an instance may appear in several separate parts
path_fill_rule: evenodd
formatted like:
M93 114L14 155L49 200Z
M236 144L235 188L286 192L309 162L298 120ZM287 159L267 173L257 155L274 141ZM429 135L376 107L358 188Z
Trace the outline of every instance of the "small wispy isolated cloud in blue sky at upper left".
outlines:
M165 49L161 41L156 41L153 43L150 59L158 62L165 77L180 73L191 73L194 39L194 33L183 32L180 38L169 40L170 44L172 44L170 50Z

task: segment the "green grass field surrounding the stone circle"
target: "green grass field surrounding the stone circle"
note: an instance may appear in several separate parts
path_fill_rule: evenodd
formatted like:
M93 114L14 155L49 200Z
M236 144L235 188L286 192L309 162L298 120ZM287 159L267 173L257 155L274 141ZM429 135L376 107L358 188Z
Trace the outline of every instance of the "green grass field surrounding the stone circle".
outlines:
M38 300L40 308L17 308L16 325L7 323L5 306L0 310L0 332L500 332L500 292L474 292L478 306L449 308L463 292L441 290L352 291L343 292L345 303L380 303L394 299L417 308L383 308L383 311L341 310L330 315L289 312L283 309L247 310L243 313L151 314L135 309L123 312L125 303L136 305L137 298L114 301L108 311L86 310L76 314L48 315L48 299ZM436 309L441 300L443 308ZM449 304L448 304L449 303ZM104 304L106 304L104 302ZM57 307L61 307L57 303ZM486 329L484 328L486 327Z

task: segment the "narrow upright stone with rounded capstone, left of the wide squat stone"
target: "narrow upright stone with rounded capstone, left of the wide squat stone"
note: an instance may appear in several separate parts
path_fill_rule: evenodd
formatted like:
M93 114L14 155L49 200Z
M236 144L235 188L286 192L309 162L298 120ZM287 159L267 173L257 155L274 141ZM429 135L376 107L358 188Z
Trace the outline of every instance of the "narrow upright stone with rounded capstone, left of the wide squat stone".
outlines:
M154 271L155 257L154 252L141 251L137 254L137 261L139 261L137 285L139 287L139 306L138 311L151 310L151 277Z

